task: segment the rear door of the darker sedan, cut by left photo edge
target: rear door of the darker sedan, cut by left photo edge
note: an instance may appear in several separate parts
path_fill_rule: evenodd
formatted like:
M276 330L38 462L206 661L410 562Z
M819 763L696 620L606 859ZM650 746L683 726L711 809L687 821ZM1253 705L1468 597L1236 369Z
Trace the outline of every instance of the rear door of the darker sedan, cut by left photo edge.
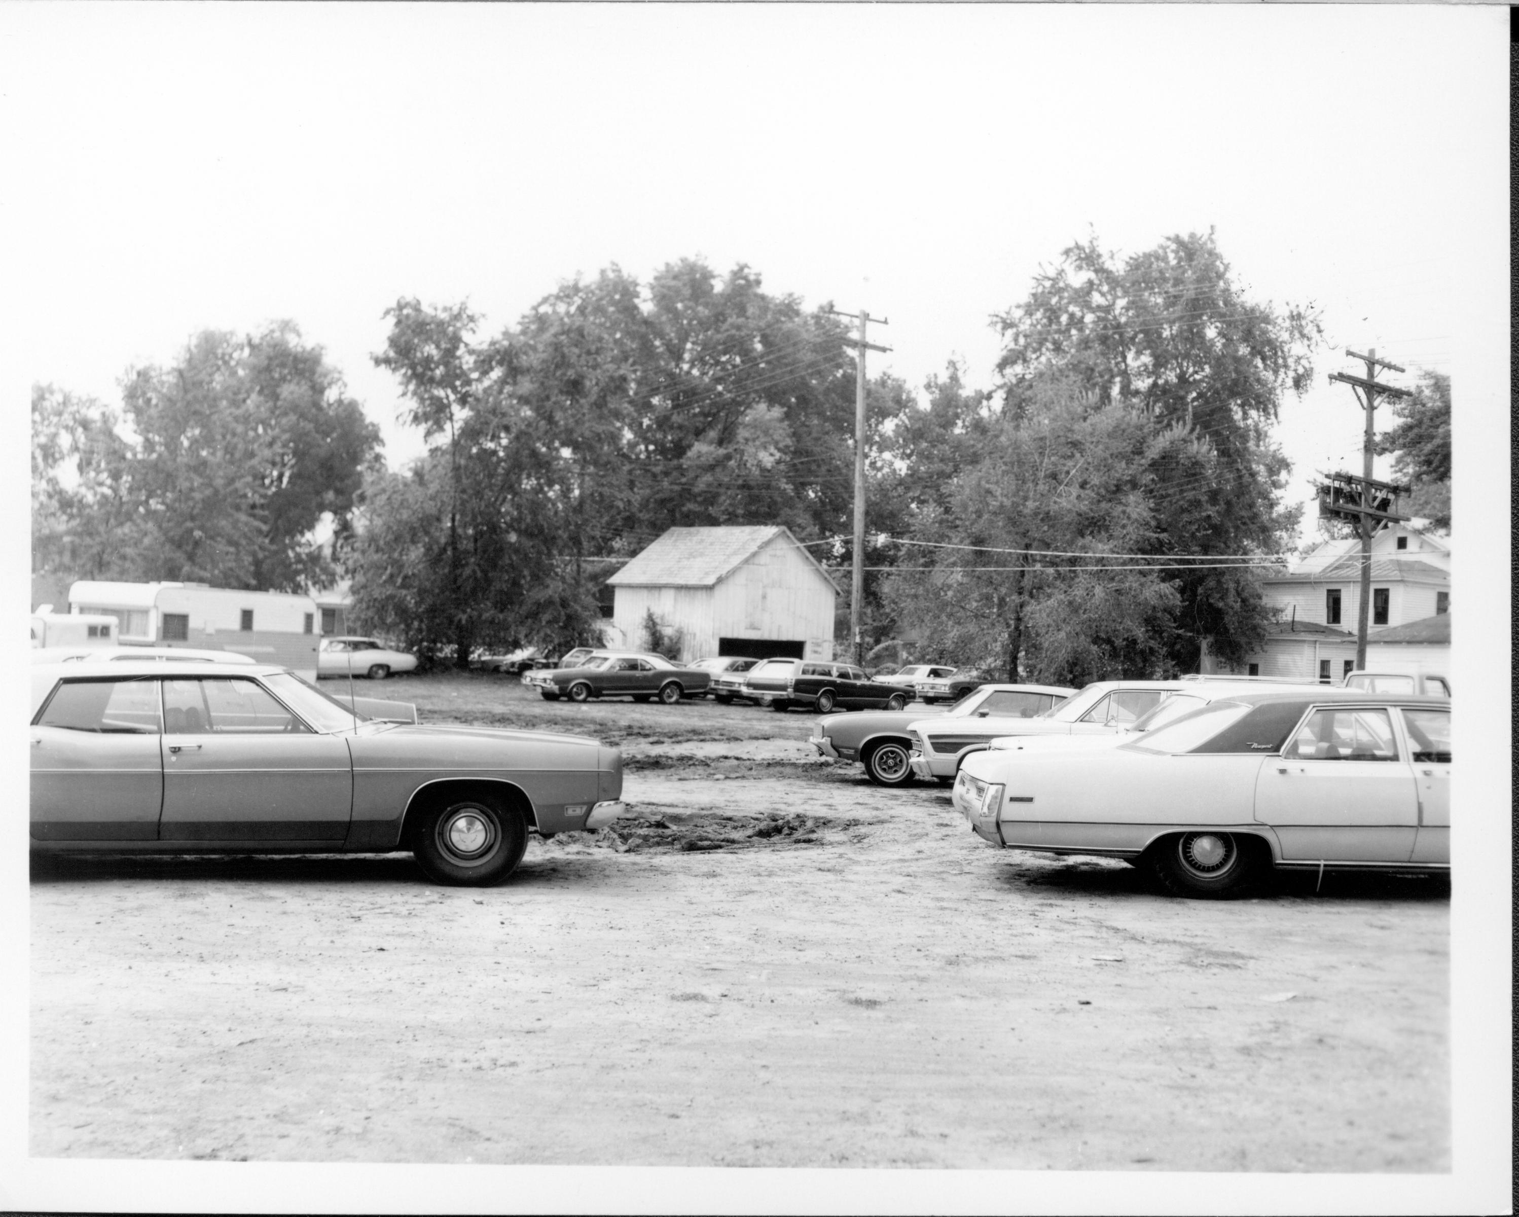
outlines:
M32 725L35 840L155 840L158 681L59 681Z

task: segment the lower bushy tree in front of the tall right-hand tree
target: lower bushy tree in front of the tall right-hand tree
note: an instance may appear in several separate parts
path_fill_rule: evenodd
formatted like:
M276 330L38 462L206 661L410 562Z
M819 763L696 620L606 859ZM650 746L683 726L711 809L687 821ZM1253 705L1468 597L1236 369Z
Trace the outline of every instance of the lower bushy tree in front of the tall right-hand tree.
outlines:
M1189 444L1123 403L1069 383L1030 386L1024 409L986 425L981 457L919 511L887 597L922 640L919 658L978 662L1048 682L1156 675L1168 665L1176 588L1109 558L1154 541L1161 456Z

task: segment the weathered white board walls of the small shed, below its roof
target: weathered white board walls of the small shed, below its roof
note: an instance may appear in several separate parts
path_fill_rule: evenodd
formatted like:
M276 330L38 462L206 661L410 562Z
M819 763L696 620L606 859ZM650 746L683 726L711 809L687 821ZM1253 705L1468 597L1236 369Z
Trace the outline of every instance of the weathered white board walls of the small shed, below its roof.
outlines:
M778 536L711 588L617 586L612 624L644 646L653 611L665 629L681 631L681 659L717 655L718 638L801 641L807 658L834 656L834 602L838 593L805 556Z

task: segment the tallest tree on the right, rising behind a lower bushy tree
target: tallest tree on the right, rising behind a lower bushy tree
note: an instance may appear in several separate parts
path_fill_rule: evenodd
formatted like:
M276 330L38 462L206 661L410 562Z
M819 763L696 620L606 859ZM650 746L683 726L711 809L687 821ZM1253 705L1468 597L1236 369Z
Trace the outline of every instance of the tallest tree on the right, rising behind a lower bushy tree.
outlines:
M1057 372L1095 403L1123 401L1195 444L1167 448L1154 469L1147 553L1281 552L1299 509L1281 504L1288 462L1271 441L1284 392L1300 394L1320 336L1314 315L1247 299L1214 234L1174 235L1120 260L1097 239L1065 249L1028 299L996 318L1004 406L1027 409L1030 386ZM1268 611L1252 571L1171 571L1179 602L1170 658L1195 670L1208 641L1238 662Z

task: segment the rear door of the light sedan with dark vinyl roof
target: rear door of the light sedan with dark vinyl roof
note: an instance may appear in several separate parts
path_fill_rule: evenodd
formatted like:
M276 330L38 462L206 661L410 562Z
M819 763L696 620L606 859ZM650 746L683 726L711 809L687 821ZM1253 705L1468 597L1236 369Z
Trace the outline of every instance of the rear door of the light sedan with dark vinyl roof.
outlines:
M1385 706L1318 706L1261 766L1255 819L1284 861L1408 861L1419 793Z

